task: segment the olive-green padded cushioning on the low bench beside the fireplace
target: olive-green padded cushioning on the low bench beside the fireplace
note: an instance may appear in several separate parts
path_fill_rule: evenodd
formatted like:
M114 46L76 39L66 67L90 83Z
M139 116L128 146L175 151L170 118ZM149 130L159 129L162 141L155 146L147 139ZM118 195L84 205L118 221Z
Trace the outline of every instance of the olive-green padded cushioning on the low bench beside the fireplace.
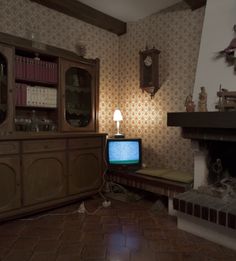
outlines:
M172 169L141 169L136 173L141 175L148 175L151 177L166 179L170 181L177 181L182 183L192 183L193 182L193 174L182 172L179 170Z

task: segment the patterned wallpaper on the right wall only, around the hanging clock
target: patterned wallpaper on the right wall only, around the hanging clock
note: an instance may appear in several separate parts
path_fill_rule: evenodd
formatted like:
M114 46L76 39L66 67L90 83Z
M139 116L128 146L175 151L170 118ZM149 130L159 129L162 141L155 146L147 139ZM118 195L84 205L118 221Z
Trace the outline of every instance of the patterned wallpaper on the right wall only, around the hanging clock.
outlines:
M130 23L120 39L120 107L122 131L143 139L147 166L193 171L190 141L179 128L166 126L167 112L185 111L192 92L204 8L192 12L179 3L139 22ZM160 53L161 88L153 99L139 88L139 51L155 46Z

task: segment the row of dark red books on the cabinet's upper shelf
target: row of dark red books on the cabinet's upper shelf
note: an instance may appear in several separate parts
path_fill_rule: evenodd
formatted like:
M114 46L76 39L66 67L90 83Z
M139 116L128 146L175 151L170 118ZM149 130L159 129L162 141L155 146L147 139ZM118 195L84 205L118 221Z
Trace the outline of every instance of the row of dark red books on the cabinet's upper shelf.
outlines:
M56 84L58 81L57 64L16 55L15 76L19 80Z

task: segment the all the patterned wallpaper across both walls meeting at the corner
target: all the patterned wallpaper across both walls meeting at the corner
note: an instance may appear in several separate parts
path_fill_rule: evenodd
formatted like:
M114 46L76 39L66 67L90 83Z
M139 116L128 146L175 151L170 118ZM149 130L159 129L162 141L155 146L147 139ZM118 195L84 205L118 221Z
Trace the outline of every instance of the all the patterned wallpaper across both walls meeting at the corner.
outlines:
M192 91L204 9L192 12L184 3L128 24L118 36L52 11L29 0L0 1L0 31L100 58L99 129L112 135L115 107L122 110L122 132L143 139L147 166L192 170L190 143L178 128L167 128L166 113L183 111ZM161 88L153 99L139 88L139 51L155 46L160 54Z

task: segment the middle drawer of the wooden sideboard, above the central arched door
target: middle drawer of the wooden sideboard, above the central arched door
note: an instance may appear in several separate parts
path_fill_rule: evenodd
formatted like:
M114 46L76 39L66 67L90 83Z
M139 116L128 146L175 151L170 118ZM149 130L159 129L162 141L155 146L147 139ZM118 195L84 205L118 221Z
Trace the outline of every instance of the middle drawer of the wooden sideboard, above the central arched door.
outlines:
M65 150L65 140L34 140L24 141L22 150L23 153L42 152L42 151L58 151Z

